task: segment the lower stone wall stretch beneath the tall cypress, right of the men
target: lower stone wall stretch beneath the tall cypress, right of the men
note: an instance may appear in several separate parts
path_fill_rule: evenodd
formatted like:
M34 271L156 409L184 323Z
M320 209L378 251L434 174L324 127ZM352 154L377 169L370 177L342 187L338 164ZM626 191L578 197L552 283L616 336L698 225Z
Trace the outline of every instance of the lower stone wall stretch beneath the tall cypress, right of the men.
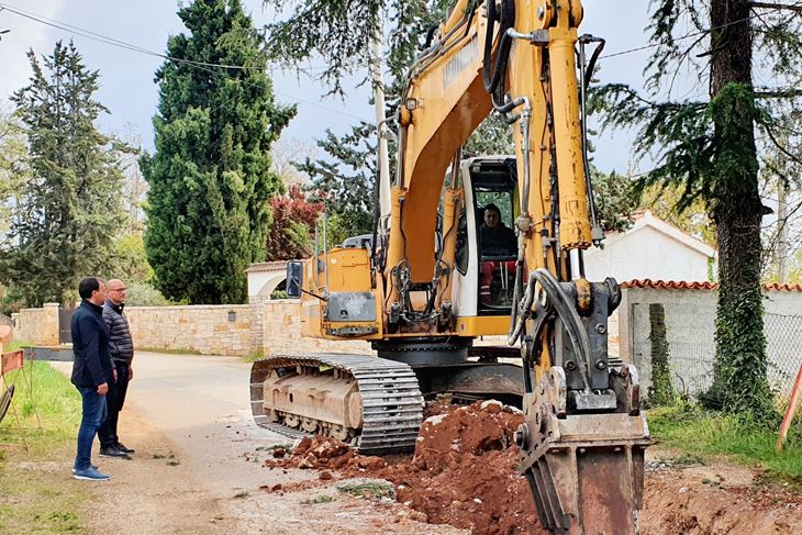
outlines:
M247 304L131 306L125 315L135 347L238 356L261 347L258 310Z

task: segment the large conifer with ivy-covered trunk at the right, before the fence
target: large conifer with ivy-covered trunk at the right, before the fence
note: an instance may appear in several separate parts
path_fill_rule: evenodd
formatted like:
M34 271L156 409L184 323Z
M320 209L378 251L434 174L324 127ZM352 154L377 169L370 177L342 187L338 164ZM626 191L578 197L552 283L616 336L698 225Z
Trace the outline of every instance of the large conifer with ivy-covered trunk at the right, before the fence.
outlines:
M758 189L756 129L777 142L780 119L800 108L800 8L748 0L659 0L653 5L649 30L657 54L648 70L650 94L612 85L601 88L595 102L606 112L608 125L642 126L635 146L642 155L659 153L641 187L679 182L679 210L701 199L716 225L716 359L705 402L771 419L760 293L767 209ZM754 83L756 51L775 87ZM706 99L661 99L666 88L670 97L680 68L709 77Z

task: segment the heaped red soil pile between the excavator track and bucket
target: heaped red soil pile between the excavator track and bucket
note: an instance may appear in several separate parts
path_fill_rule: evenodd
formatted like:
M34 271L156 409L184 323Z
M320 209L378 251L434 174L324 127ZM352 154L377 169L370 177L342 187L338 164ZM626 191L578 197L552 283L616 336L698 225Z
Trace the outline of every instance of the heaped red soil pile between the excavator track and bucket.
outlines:
M427 409L412 459L389 466L356 454L333 438L304 438L292 455L268 467L336 469L343 476L392 481L398 501L432 524L450 524L477 535L542 534L526 480L515 469L512 435L520 411L497 401L455 409ZM327 472L322 472L327 473Z

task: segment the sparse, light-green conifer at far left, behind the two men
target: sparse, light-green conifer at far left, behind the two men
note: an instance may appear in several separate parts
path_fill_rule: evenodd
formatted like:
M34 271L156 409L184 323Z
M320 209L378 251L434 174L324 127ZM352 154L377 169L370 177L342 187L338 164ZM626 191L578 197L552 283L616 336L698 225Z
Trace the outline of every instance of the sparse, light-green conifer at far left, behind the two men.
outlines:
M27 306L70 302L81 277L109 263L123 223L121 146L94 120L108 110L92 98L97 70L88 70L73 43L53 55L29 52L31 83L16 91L29 154L30 179L21 187L11 230L2 245L0 279Z

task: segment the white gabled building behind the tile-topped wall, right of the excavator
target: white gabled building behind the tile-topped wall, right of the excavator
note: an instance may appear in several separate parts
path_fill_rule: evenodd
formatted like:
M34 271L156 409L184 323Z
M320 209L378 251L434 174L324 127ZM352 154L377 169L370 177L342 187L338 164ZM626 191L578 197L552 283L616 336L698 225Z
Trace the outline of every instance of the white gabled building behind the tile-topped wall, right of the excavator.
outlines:
M704 242L656 218L649 211L633 214L634 225L609 234L604 248L584 253L588 280L613 277L619 282L635 279L706 281L716 252Z

